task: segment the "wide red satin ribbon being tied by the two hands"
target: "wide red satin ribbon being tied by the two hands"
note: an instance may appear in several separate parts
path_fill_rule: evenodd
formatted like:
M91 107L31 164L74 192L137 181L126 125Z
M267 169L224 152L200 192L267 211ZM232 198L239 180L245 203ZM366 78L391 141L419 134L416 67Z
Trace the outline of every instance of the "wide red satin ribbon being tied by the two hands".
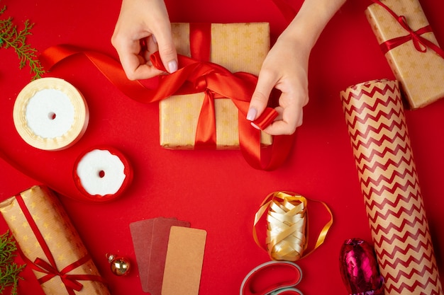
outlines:
M262 153L263 149L260 146L260 131L251 127L250 121L245 119L257 83L257 76L243 72L233 74L218 64L199 62L196 59L179 55L179 70L173 74L158 76L158 87L149 89L139 81L129 81L121 64L99 52L80 50L69 45L56 45L45 50L40 57L40 61L47 69L51 69L52 66L63 59L78 54L84 54L126 96L142 103L152 103L177 94L201 92L207 93L208 96L211 93L213 98L230 98L240 112L240 149L246 161L254 168L273 170L285 161L291 150L294 136L277 136L274 137L271 156L265 156L266 151ZM151 62L157 68L166 71L158 52L152 54ZM212 99L209 98L203 106L210 110L201 110L201 115L199 115L201 125L208 124L209 121L207 120L211 120L208 119L213 113L211 110L213 106L209 103L210 101ZM270 125L276 117L277 112L272 108L267 108L254 123L263 129ZM204 126L203 129L199 129L201 131L196 134L198 146L214 145L214 132L210 132L212 128L205 129ZM211 135L209 135L210 133ZM262 156L262 154L264 155Z

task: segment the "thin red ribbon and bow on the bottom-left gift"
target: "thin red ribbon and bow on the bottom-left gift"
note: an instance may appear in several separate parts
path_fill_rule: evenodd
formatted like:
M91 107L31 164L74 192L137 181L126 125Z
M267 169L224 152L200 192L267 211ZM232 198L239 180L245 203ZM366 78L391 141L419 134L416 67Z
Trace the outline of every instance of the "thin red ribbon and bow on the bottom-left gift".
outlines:
M26 204L23 201L23 198L21 197L21 195L16 195L16 199L17 199L18 205L21 208L21 211L23 212L23 215L26 218L26 221L28 221L30 228L33 230L33 233L35 234L35 238L37 238L37 241L40 244L40 247L42 248L43 253L45 253L46 258L49 261L49 262L47 262L41 258L36 258L34 260L34 262L32 262L31 260L29 260L26 257L26 255L23 255L23 253L21 253L23 260L26 262L26 264L30 265L33 268L33 270L45 273L45 276L40 277L40 279L38 279L39 284L43 284L45 282L48 282L53 277L59 276L60 279L62 280L63 284L65 285L65 288L67 289L68 294L75 295L74 291L81 291L83 288L83 285L80 282L78 282L79 280L97 281L97 282L104 283L104 279L102 277L97 276L97 275L68 274L68 272L71 272L72 270L75 270L80 265L83 265L84 263L88 262L91 259L89 257L89 255L86 255L83 258L80 258L79 260L68 265L67 267L65 267L61 271L57 270L57 265L55 263L54 257L52 256L50 248L48 247L48 244L45 242L45 239L43 238L42 233L40 233L40 230L38 229L37 224L35 224L33 216L31 216L31 214L28 210L28 207L26 207Z

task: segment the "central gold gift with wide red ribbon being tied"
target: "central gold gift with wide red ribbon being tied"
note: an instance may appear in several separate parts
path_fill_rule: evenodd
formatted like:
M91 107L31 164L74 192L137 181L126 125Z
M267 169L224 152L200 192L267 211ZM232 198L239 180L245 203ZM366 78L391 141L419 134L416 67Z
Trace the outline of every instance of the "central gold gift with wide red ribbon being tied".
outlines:
M270 49L268 23L180 23L172 30L179 69L148 81L148 87L128 80L121 64L101 52L56 45L40 60L52 69L68 57L84 55L128 98L160 102L160 144L165 148L240 149L250 166L261 170L284 163L294 134L272 137L260 131L279 115L273 108L279 91L272 91L270 104L253 121L258 129L246 119L257 74ZM150 56L150 63L167 71L159 52Z

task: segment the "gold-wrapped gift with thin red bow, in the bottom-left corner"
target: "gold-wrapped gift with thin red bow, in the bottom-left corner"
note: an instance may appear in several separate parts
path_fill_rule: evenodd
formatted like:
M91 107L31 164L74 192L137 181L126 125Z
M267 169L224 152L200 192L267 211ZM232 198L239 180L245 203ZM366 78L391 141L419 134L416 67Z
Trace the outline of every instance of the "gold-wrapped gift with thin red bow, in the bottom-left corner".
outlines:
M98 282L99 271L48 187L34 186L6 199L0 203L0 212L45 294L74 294L74 290L82 295L110 294L105 284ZM66 273L66 278L62 280L57 271ZM68 291L72 285L79 291Z

